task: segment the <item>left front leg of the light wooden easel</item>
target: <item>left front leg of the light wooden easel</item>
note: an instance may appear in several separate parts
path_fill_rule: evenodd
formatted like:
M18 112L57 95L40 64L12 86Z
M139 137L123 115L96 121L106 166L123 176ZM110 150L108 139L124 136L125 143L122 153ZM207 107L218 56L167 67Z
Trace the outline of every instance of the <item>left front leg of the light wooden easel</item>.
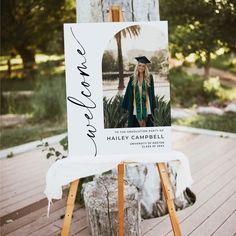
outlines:
M65 212L65 218L64 218L64 223L61 231L61 236L68 236L70 232L70 225L71 225L71 218L74 210L74 205L75 205L75 197L77 193L79 185L79 179L71 182L70 185L70 192L69 196L67 199L67 204L66 204L66 212Z

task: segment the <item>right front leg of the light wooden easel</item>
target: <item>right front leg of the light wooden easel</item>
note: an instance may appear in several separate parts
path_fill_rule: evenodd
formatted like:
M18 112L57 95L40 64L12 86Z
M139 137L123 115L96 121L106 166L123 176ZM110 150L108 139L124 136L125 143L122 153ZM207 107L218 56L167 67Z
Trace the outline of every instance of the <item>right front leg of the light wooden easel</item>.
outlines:
M157 163L157 168L159 171L162 188L165 195L166 204L169 211L170 221L171 221L174 235L181 236L178 219L175 212L173 189L172 189L172 185L168 176L166 165L165 163Z

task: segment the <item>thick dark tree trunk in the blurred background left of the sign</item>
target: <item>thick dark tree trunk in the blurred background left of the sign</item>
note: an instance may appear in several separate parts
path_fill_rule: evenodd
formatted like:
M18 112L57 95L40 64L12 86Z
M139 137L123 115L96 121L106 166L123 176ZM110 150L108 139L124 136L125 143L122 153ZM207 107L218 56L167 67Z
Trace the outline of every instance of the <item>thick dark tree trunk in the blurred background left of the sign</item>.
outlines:
M19 48L17 49L17 51L19 52L22 58L24 71L26 73L32 71L36 65L34 51L26 48Z

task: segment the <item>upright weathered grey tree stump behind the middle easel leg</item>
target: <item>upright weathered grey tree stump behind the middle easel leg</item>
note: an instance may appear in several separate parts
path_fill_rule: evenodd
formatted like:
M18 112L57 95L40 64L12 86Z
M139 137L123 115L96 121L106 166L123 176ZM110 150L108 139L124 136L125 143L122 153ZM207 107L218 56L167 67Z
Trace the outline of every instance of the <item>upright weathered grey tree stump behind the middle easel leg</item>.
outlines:
M118 235L117 177L104 175L83 185L84 202L92 236ZM140 204L134 185L124 181L124 235L141 235Z

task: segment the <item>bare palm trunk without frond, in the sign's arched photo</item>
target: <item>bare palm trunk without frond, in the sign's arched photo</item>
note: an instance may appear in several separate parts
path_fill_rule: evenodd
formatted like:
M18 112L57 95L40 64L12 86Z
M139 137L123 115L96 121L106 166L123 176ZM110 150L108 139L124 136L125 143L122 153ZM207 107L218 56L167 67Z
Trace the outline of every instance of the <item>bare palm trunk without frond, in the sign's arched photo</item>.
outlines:
M122 55L122 45L121 45L121 32L116 34L116 42L118 49L118 70L119 70L119 85L118 90L123 90L124 85L124 65L123 65L123 55Z

